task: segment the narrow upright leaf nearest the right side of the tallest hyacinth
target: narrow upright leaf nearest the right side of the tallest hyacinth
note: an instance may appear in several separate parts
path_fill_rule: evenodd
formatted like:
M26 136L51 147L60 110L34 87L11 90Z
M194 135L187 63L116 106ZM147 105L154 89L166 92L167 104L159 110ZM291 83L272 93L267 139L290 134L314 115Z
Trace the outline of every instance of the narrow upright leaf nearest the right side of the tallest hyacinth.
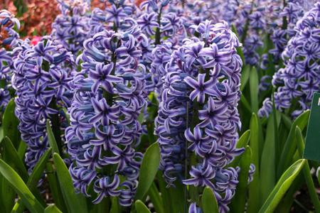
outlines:
M255 174L249 186L249 200L247 212L256 213L260 208L260 155L259 155L259 121L255 113L250 120L250 148L252 149L252 163L255 165Z

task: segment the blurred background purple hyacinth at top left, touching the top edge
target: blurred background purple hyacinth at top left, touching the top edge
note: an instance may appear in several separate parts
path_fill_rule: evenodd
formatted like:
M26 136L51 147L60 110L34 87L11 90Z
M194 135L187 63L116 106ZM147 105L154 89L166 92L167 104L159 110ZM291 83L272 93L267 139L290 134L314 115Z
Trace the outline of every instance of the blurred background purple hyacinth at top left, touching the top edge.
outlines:
M82 50L83 42L89 31L89 18L85 12L89 8L86 0L59 0L61 14L55 18L52 28L53 38L60 40L63 46L75 57Z

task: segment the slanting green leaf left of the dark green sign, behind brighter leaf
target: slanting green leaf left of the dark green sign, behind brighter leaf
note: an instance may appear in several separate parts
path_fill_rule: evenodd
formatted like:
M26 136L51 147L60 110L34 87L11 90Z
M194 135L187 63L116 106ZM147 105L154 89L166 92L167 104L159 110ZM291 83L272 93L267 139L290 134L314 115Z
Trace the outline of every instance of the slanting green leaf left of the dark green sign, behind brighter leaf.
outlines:
M297 119L292 124L289 132L289 136L287 138L286 143L284 143L284 148L282 149L282 153L279 158L277 177L279 177L283 173L283 171L289 167L290 163L292 162L292 157L297 148L296 146L297 143L294 142L296 126L299 126L299 128L303 131L304 128L306 127L306 124L308 123L309 114L310 114L309 110L304 111L304 113L298 116Z

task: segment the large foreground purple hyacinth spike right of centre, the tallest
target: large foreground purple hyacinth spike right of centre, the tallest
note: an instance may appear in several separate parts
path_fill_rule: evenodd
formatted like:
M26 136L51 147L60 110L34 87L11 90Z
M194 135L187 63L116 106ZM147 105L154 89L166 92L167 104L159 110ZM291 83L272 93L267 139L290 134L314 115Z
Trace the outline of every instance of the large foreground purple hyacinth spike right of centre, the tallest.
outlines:
M237 170L228 163L242 153L236 148L242 61L235 48L240 43L225 22L192 28L198 38L183 40L165 67L155 121L161 170L168 185L183 180L211 187L220 212L228 212L238 183ZM188 170L191 177L183 177Z

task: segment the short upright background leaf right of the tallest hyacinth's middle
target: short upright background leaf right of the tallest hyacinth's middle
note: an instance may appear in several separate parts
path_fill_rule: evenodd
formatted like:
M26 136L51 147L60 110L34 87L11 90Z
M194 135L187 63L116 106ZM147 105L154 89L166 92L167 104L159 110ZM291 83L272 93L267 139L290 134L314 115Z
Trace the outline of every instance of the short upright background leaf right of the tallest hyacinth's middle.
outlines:
M251 109L253 112L257 113L259 109L259 98L258 98L259 79L258 79L257 70L255 69L255 67L253 67L252 70L250 71L249 84L250 84Z

